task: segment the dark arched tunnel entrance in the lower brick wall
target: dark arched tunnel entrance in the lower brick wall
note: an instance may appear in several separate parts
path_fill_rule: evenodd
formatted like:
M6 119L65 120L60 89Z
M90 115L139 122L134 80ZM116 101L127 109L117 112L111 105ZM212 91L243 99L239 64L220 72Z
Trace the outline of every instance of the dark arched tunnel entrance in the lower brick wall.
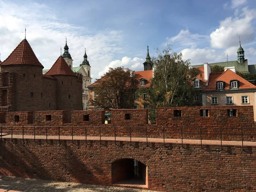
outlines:
M148 186L147 166L135 159L120 159L111 164L112 184Z

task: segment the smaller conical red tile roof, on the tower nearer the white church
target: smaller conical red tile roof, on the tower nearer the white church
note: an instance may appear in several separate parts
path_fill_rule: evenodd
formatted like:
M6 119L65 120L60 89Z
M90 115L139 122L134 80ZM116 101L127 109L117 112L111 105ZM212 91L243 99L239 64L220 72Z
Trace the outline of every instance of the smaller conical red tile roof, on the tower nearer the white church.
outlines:
M57 76L57 75L66 75L66 76L76 76L76 73L74 73L70 67L68 66L67 62L64 60L62 56L60 56L55 63L52 65L52 67L49 69L47 73L45 73L47 76Z

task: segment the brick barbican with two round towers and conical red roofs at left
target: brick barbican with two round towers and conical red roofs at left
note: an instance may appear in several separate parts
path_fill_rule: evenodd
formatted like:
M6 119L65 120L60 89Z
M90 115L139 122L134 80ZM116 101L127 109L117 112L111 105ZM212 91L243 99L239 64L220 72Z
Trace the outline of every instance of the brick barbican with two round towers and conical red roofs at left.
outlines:
M26 38L0 63L0 111L82 110L82 76L60 56L43 74Z

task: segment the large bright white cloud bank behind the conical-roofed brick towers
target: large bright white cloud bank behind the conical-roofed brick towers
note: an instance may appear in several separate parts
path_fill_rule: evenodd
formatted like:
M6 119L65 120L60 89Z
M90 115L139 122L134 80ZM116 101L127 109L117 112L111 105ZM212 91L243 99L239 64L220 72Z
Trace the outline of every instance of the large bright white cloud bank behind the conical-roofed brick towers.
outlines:
M84 47L87 48L91 76L95 78L113 61L115 54L123 52L122 31L105 29L92 33L85 27L61 20L44 4L27 3L26 6L20 6L0 0L0 20L1 61L23 40L25 26L26 39L44 69L49 69L58 58L66 37L74 66L83 60Z

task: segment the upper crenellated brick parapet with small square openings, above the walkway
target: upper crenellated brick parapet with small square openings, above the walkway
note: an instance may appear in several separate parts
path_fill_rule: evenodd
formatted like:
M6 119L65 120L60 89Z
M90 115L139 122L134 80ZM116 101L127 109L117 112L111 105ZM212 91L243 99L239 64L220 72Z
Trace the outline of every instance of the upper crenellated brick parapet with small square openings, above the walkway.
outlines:
M200 110L209 110L209 116L200 116ZM236 116L228 116L228 110L236 110ZM181 117L174 116L174 111L180 110ZM241 128L243 128L243 140L256 140L255 122L253 121L253 106L221 106L221 107L184 107L184 108L158 108L156 125L148 124L148 110L128 109L112 110L111 124L104 124L105 111L73 111L71 123L67 123L67 111L38 111L35 113L35 123L27 124L24 121L13 123L15 115L20 112L1 113L0 125L3 132L10 133L13 126L13 134L22 134L22 126L25 134L46 134L46 126L49 135L74 136L114 136L116 137L153 137L153 138L181 138L183 139L213 139L213 140L242 140ZM26 114L26 113L24 113ZM125 119L125 116L131 119ZM8 118L4 118L4 116ZM46 119L51 115L51 121ZM89 121L84 119L89 116ZM60 126L60 128L58 127Z

